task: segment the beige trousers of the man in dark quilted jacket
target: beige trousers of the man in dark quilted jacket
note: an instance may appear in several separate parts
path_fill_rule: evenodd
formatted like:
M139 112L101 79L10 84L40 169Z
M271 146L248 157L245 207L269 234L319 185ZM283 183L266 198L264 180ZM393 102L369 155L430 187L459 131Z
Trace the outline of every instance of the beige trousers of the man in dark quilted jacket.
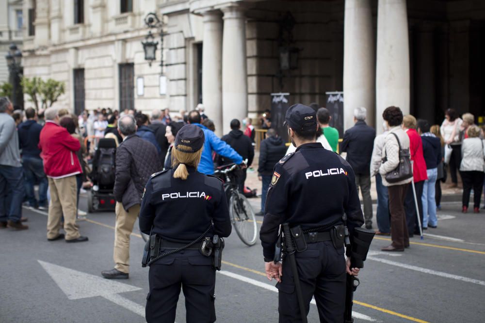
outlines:
M114 208L116 213L116 224L114 228L114 268L129 273L129 236L133 231L136 218L140 214L140 204L135 204L129 208L128 212L123 208L123 204L116 202Z

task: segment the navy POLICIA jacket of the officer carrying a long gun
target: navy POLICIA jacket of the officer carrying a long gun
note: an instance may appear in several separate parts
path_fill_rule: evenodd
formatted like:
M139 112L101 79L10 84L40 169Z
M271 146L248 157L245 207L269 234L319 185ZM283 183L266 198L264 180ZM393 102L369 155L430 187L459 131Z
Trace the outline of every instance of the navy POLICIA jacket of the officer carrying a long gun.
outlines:
M275 165L259 231L264 258L275 256L280 224L313 229L338 221L344 213L352 235L364 224L352 167L321 143L299 146Z

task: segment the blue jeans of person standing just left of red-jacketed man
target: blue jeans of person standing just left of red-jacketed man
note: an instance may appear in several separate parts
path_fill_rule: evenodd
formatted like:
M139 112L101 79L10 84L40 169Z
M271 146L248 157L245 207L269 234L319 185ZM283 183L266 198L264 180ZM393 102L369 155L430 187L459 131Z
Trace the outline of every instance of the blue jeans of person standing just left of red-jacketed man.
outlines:
M42 159L23 156L22 165L25 176L25 195L27 196L30 206L35 207L37 205L33 189L33 185L35 185L35 182L37 181L39 183L39 206L47 207L47 188L49 187L49 182L44 173Z

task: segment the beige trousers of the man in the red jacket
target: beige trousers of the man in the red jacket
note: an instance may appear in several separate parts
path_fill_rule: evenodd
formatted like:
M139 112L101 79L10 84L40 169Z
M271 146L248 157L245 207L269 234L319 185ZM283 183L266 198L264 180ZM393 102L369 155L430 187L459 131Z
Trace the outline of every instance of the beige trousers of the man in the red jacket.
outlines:
M64 214L65 240L80 237L76 224L77 190L76 175L64 178L48 178L50 190L49 215L47 217L47 238L59 235L61 218Z

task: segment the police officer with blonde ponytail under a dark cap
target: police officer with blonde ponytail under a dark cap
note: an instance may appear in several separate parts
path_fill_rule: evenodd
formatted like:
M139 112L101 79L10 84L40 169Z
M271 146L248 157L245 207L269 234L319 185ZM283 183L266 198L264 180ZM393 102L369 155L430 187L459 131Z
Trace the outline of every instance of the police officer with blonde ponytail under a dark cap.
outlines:
M216 320L214 254L219 249L215 242L229 236L231 222L223 183L197 171L203 144L201 128L183 126L172 150L173 169L152 175L146 184L140 229L150 234L148 247L155 246L150 250L157 249L149 264L149 323L175 322L180 288L186 322Z

